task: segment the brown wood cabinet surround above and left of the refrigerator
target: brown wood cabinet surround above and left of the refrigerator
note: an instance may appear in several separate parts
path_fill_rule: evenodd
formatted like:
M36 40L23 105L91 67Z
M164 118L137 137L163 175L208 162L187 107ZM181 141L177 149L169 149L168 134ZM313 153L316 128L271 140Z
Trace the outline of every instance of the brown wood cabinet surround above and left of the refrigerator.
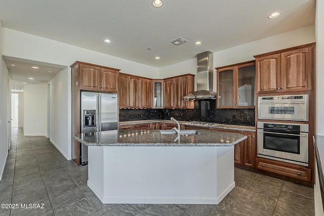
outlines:
M80 92L82 90L117 92L119 69L74 62L71 66L71 133L80 133ZM80 143L71 139L72 160L80 164Z

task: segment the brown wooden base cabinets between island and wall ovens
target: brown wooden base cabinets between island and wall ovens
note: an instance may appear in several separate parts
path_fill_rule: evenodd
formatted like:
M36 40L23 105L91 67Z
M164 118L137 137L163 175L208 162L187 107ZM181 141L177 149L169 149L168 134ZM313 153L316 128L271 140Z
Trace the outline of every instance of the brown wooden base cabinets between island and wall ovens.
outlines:
M234 131L231 129L210 128L212 131L222 131L238 133L248 136L248 138L236 145L234 145L234 163L245 165L247 167L255 166L256 156L256 138L255 132Z

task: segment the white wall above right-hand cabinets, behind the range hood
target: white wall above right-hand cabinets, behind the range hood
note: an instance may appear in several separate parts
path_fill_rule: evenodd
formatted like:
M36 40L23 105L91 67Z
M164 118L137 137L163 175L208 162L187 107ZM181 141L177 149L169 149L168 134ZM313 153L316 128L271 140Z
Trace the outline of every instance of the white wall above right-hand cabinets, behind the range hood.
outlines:
M310 25L271 37L249 42L213 54L214 67L220 67L239 62L254 60L254 55L281 50L315 41L315 26ZM161 78L176 76L184 73L197 74L196 59L180 62L159 69ZM214 91L217 91L216 70L214 69ZM195 85L196 89L196 85Z

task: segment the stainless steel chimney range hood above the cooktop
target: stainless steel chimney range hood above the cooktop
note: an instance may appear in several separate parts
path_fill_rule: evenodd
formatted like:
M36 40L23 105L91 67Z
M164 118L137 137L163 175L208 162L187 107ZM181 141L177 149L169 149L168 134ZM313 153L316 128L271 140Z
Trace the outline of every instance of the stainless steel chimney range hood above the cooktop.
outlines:
M197 54L197 91L183 97L189 99L216 99L213 92L213 53Z

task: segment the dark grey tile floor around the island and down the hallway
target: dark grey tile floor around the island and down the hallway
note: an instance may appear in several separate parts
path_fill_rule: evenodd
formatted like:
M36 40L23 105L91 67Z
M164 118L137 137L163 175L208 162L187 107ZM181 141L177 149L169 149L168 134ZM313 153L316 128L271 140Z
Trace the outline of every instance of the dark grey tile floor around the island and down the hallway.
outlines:
M102 204L87 186L87 166L66 160L45 137L13 129L0 203L44 208L0 208L14 215L314 215L313 189L235 168L235 188L218 205ZM41 206L42 207L42 206Z

